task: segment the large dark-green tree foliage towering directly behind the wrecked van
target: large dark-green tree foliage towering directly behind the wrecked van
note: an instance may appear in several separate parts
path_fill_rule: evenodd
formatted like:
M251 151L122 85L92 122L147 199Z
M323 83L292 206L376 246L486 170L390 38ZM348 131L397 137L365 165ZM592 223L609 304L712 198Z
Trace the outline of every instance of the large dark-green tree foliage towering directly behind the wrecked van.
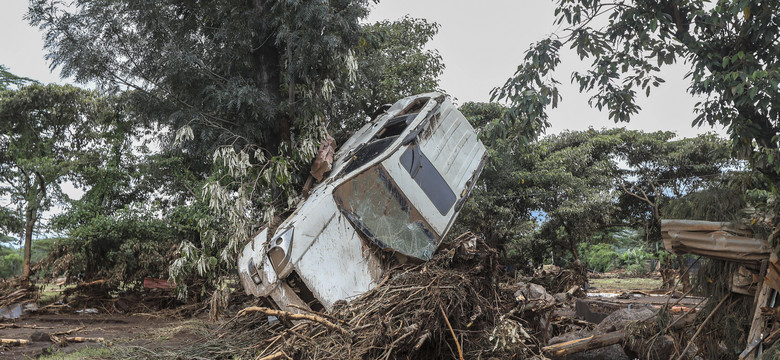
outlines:
M106 216L105 201L116 209L157 193L165 211L194 220L171 276L230 273L250 234L297 203L328 130L347 132L383 103L436 88L441 58L423 46L437 26L408 17L362 25L367 12L367 0L32 1L28 18L45 32L52 66L133 89L127 111L161 129L151 134L160 154L138 162L117 151L85 172L95 190L70 222ZM112 182L123 190L111 192Z

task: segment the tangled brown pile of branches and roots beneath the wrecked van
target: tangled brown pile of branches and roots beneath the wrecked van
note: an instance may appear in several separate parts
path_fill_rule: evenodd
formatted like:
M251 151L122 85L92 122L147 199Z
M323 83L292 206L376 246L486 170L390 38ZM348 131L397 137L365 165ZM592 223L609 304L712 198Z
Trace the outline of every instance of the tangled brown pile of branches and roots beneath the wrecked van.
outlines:
M527 304L500 290L497 252L471 233L429 262L399 265L330 313L249 307L211 341L166 357L258 359L532 358ZM268 316L280 322L268 324ZM145 354L148 355L148 354Z

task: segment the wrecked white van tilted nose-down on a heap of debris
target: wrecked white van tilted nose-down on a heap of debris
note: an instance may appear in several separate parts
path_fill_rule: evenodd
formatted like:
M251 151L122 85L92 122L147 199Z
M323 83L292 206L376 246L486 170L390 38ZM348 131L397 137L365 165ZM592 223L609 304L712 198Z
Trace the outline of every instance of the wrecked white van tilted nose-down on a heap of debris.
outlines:
M244 290L286 311L323 311L376 287L388 256L431 259L485 160L446 96L399 100L341 146L273 236L266 228L245 246Z

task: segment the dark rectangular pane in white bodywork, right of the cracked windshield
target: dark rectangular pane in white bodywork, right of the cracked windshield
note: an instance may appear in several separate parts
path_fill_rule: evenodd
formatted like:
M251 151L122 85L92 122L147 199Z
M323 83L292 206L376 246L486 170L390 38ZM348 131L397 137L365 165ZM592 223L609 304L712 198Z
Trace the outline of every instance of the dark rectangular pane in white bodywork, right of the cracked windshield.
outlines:
M409 172L417 185L420 185L439 213L446 215L455 204L455 193L433 163L422 153L420 146L407 148L401 154L400 161L401 166Z

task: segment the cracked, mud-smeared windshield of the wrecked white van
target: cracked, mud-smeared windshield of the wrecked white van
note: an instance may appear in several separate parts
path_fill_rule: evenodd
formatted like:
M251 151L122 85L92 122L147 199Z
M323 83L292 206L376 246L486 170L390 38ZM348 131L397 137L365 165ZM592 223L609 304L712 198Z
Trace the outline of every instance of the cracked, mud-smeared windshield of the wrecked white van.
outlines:
M381 165L339 186L333 197L355 226L381 248L430 260L437 235Z

